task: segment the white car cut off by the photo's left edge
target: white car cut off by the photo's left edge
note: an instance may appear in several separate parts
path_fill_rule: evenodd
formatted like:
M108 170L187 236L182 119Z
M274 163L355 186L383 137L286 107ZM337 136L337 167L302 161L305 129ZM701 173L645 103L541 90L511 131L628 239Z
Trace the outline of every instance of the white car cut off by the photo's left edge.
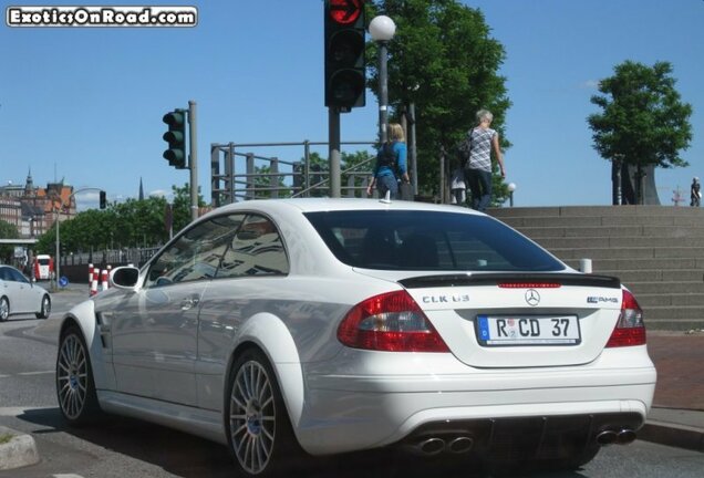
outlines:
M34 314L46 319L51 313L51 297L12 266L0 266L0 322L10 315Z

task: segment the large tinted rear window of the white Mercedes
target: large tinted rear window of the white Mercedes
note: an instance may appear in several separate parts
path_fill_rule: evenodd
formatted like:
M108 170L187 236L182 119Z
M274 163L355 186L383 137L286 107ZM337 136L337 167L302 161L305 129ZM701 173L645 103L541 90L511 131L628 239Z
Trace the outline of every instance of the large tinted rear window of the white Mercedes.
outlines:
M561 271L565 266L486 216L436 211L308 212L335 257L382 270Z

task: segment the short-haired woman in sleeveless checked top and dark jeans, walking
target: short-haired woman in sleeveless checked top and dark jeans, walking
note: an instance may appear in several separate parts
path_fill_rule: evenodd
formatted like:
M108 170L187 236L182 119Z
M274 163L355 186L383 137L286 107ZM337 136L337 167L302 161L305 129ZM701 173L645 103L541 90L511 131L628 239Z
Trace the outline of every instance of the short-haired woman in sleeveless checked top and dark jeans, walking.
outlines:
M465 165L465 177L472 193L472 208L479 211L486 210L491 202L491 148L494 148L501 177L506 177L498 133L489 127L491 121L494 115L489 111L479 110L478 125L467 133L469 159Z

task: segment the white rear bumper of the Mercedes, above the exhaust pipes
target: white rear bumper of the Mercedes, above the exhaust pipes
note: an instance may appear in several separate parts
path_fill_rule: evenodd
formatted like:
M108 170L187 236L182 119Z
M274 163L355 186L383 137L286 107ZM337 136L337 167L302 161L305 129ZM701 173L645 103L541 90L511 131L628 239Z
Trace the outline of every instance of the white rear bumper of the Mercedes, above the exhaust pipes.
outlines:
M648 416L656 378L649 358L628 368L473 373L449 354L426 356L422 367L412 362L395 375L307 371L306 405L296 427L301 446L312 455L335 454L407 441L438 424L469 429L518 418L586 417L580 433L590 434L592 426L604 425L590 424L589 417L615 416L613 426L636 429ZM435 373L420 373L429 370Z

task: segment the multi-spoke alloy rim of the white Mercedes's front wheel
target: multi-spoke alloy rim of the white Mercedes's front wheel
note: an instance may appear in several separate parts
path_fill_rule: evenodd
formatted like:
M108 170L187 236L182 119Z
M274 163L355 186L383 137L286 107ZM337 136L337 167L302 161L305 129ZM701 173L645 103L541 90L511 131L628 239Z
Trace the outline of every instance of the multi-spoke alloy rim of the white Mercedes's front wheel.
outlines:
M84 412L89 391L87 367L83 342L73 333L64 336L59 349L56 383L59 404L69 419L77 419Z

